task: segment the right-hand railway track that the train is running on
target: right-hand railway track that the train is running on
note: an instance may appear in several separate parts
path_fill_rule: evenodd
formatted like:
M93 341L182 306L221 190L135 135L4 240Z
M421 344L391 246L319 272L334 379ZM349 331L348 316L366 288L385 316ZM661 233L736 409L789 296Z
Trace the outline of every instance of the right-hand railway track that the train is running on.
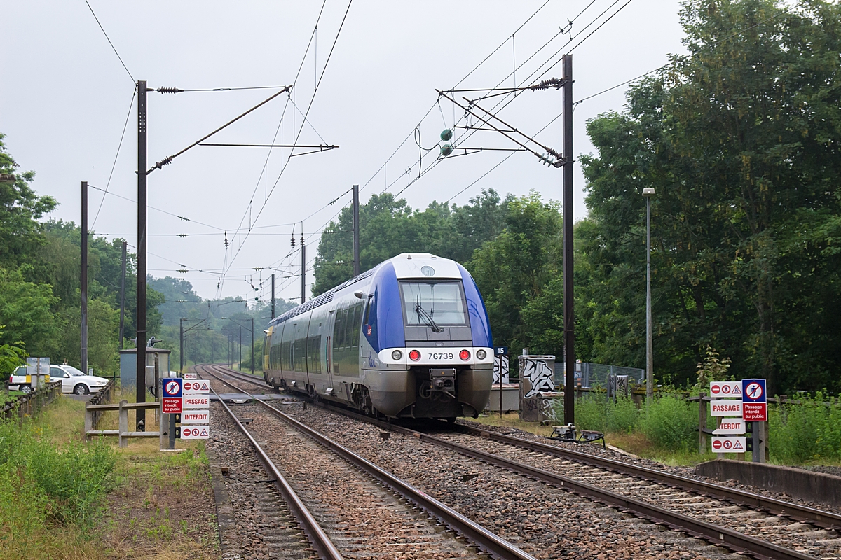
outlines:
M831 512L473 427L433 435L331 410L571 490L733 552L758 558L837 558L841 550L841 516Z

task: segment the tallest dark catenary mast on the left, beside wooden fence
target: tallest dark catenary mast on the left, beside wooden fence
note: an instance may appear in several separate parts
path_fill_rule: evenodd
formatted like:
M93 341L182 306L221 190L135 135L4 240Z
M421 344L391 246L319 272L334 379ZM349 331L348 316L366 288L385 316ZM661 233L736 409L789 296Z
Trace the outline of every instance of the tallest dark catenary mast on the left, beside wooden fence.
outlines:
M146 401L146 81L137 82L137 402ZM146 411L137 409L137 431Z

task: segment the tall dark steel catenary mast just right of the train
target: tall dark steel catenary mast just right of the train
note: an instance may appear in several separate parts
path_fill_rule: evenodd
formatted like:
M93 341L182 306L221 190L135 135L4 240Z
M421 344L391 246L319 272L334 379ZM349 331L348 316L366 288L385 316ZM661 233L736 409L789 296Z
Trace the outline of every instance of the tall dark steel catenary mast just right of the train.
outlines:
M573 282L573 57L563 56L563 423L575 424Z

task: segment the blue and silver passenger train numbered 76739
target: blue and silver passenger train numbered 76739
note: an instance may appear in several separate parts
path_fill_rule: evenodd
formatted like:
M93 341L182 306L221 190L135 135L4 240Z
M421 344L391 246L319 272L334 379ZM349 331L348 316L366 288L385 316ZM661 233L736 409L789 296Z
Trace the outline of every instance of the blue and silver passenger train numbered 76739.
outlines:
M269 323L266 382L375 416L478 416L494 352L461 264L399 254Z

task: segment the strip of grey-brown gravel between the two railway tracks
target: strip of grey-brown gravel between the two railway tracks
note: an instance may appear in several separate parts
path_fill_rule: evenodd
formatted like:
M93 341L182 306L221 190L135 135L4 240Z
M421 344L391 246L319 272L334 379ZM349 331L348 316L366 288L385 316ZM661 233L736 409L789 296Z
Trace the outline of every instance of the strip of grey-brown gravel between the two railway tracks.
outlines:
M415 437L310 406L283 406L538 558L738 558L678 531L449 452Z

